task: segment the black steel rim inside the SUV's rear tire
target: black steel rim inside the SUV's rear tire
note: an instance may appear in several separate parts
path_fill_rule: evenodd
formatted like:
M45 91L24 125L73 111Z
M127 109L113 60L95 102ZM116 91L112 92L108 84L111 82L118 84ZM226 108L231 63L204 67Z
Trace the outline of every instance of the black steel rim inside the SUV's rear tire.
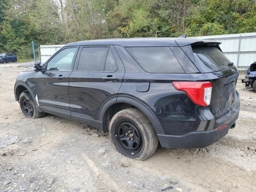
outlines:
M116 139L120 147L128 153L137 154L142 147L140 130L131 122L124 121L116 126Z

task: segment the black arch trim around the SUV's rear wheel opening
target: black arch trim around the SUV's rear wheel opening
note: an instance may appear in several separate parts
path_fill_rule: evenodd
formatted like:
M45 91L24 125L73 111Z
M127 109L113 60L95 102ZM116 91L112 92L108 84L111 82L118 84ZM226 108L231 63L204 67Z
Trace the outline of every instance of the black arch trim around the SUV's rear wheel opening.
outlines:
M162 125L160 124L158 118L156 117L154 112L150 109L150 107L147 106L144 102L142 102L138 98L135 98L133 96L128 96L128 95L121 95L121 96L118 96L117 98L116 98L116 96L109 98L102 104L102 106L99 110L99 113L98 113L98 120L102 122L103 130L108 129L106 126L106 123L105 123L105 118L106 118L106 114L107 114L108 110L111 107L113 107L115 104L118 104L118 103L128 104L130 106L133 106L133 107L141 110L145 114L145 116L150 120L150 122L152 123L154 129L156 130L156 133L164 134Z

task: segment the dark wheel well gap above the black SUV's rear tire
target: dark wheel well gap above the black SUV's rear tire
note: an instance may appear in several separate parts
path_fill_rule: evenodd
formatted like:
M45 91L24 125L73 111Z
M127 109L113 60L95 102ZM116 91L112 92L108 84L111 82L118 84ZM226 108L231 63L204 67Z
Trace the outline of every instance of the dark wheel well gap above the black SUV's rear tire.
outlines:
M104 118L104 125L106 130L109 130L109 124L111 119L114 117L114 115L119 111L122 111L127 108L136 108L136 107L128 103L115 103L112 106L110 106L110 108L108 108Z

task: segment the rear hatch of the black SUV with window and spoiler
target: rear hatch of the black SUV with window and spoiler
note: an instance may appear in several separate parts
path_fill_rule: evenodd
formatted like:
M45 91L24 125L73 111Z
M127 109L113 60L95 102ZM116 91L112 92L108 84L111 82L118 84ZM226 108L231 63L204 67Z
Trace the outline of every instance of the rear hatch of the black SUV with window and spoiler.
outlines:
M238 69L220 50L220 42L180 39L177 44L213 84L210 110L216 119L232 110L237 100Z

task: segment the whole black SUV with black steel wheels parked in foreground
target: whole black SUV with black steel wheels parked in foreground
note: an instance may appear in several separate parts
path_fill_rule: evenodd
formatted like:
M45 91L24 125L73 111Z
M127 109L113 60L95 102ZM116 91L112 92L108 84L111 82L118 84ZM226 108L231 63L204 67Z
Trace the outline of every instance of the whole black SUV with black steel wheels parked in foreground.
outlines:
M123 155L158 147L202 148L238 118L238 68L219 42L131 38L70 43L20 72L16 100L28 118L45 113L108 131Z

